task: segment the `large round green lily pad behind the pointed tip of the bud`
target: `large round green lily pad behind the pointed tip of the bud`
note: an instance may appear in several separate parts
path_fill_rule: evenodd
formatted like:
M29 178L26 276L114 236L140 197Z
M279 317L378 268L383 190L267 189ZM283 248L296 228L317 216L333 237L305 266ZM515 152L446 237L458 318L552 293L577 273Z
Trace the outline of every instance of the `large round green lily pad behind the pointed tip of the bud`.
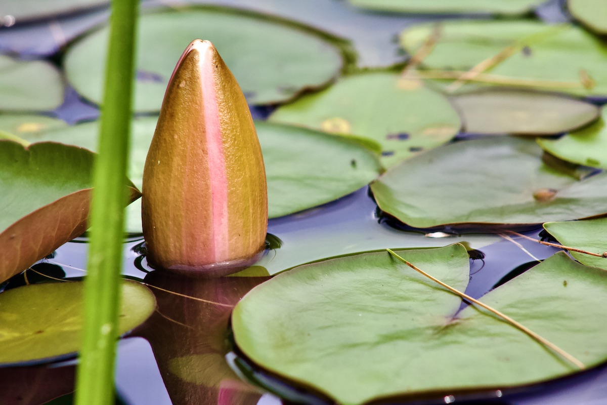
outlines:
M101 103L107 27L67 52L67 80ZM181 52L194 38L209 39L234 73L249 103L290 100L324 86L344 64L338 39L253 12L188 7L147 13L138 21L135 111L158 111ZM158 55L162 55L159 57Z

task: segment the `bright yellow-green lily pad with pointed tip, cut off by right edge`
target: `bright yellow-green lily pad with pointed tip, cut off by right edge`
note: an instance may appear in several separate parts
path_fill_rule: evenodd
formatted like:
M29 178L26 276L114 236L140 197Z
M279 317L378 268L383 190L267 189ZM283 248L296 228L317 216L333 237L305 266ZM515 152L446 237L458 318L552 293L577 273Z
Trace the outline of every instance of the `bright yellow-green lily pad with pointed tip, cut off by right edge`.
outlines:
M544 151L568 162L607 169L607 107L591 126L570 132L558 139L538 139Z

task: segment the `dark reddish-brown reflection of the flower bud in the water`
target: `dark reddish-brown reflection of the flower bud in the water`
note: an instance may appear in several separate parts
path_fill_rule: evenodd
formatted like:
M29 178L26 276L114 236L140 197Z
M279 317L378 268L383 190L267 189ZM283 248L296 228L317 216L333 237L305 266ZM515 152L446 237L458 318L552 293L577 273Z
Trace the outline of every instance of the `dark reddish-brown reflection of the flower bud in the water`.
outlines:
M152 271L157 311L136 331L148 339L174 404L254 405L261 393L243 381L225 360L232 308L251 288L269 279L251 267L215 279ZM180 295L177 295L177 294Z

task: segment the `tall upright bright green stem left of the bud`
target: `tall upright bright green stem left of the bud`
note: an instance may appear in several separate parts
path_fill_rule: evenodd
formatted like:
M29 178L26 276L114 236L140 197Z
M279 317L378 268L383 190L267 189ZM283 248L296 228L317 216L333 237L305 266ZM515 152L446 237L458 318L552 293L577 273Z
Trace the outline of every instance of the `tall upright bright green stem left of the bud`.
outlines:
M113 0L99 154L93 168L84 328L76 376L78 405L114 403L126 168L138 0Z

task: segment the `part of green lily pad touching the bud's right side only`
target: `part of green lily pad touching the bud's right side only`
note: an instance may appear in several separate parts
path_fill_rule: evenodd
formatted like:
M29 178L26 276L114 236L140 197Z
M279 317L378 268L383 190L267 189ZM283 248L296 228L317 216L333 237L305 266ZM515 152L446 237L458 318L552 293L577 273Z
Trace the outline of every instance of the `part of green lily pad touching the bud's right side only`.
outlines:
M258 121L270 217L324 204L379 175L378 158L356 140Z

